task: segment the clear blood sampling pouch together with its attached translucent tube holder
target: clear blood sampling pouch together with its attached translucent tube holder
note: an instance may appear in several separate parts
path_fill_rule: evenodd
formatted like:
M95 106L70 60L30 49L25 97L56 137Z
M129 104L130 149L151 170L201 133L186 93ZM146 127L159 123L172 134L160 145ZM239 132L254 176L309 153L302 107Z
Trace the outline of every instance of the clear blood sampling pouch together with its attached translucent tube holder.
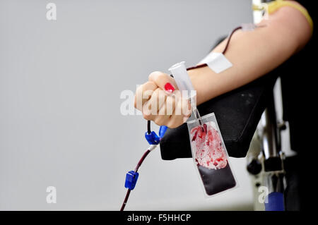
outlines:
M201 117L196 108L196 92L187 73L184 62L176 63L169 68L175 78L182 97L190 100L196 117L187 122L192 157L199 172L206 195L214 195L236 186L235 178L228 162L228 152L216 123L216 116L208 114ZM183 95L183 91L187 95Z

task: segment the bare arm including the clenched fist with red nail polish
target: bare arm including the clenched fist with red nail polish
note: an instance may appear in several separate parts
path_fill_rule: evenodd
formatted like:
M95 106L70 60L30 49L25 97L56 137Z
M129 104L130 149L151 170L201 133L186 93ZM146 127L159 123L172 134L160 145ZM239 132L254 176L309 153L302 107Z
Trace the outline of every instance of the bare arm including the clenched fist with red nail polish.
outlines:
M269 20L263 20L259 25L266 25L254 31L237 31L232 36L228 51L225 56L233 64L231 68L222 73L214 73L210 68L201 67L189 71L189 76L196 90L197 104L212 99L225 92L241 87L261 75L269 73L281 63L286 61L295 52L302 49L309 41L312 30L305 16L297 9L285 6L269 16ZM225 41L220 43L213 51L222 52ZM154 95L166 87L171 87L165 97ZM139 86L136 91L135 107L143 111L143 117L155 121L158 125L166 125L170 128L180 126L189 114L176 114L182 106L182 101L171 96L175 89L175 80L166 73L154 72L149 75L147 83ZM166 89L167 90L167 89ZM144 94L147 91L153 95ZM136 99L142 99L141 104L136 104ZM166 104L158 104L158 99L165 99ZM177 102L172 114L158 115L146 114L152 104L158 106L157 112L165 111L167 102Z

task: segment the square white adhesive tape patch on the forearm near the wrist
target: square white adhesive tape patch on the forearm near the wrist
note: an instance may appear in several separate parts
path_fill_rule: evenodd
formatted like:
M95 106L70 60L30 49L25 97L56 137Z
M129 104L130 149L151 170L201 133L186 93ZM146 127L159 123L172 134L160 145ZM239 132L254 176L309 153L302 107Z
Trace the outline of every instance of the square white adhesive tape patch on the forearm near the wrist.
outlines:
M226 59L224 54L219 52L211 52L199 62L199 64L204 63L215 73L223 72L233 66L232 63Z

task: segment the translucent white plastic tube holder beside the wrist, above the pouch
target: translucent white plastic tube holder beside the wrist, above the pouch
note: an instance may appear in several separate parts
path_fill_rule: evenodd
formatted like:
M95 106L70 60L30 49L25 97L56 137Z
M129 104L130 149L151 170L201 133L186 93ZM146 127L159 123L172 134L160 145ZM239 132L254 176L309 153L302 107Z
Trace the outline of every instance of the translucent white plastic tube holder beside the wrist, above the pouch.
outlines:
M199 110L196 108L196 91L194 90L192 82L189 78L184 61L171 66L169 71L172 73L173 78L175 78L175 83L177 83L178 89L182 92L182 97L187 97L187 99L190 99L194 116L196 119L199 119L199 124L202 126L201 116L199 114ZM184 95L186 93L187 95Z

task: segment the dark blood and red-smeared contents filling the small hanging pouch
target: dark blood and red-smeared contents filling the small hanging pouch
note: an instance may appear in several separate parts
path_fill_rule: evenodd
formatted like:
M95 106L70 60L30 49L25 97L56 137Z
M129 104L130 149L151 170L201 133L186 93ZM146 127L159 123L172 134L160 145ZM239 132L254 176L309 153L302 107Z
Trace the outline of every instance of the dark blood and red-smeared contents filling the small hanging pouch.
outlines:
M191 132L192 151L199 174L208 195L228 190L236 185L228 164L220 132L212 121L204 127L196 126Z

